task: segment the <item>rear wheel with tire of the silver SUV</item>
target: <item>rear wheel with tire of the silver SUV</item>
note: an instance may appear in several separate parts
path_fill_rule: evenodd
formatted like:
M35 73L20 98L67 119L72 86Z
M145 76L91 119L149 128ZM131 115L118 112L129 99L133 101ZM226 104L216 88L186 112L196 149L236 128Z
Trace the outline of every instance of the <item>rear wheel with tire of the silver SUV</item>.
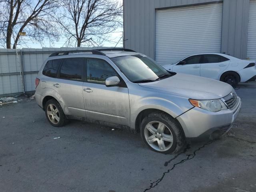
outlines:
M68 122L60 104L55 99L46 102L44 111L47 120L54 127L62 127Z

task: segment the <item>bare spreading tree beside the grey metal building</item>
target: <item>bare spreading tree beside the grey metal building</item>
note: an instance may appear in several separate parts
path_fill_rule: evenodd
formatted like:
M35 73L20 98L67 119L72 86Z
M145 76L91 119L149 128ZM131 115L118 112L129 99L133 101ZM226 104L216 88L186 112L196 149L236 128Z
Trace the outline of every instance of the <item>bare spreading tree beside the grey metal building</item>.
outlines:
M67 46L99 45L109 41L109 34L122 22L122 4L116 0L62 0L58 14Z

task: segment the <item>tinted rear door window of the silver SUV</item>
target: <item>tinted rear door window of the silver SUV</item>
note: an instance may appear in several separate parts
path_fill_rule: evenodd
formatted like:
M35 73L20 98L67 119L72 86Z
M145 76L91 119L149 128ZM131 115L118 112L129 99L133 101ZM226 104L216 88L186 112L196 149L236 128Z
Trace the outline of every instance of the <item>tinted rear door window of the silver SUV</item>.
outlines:
M60 68L60 78L82 80L84 58L67 58Z

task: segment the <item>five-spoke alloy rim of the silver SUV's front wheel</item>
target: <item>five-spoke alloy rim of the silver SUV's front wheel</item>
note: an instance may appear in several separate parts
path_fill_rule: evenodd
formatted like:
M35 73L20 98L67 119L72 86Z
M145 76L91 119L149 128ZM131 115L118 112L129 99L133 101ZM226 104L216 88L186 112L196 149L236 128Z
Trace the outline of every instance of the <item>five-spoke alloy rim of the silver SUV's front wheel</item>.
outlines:
M144 129L146 142L157 151L167 151L172 147L173 135L171 130L158 121L149 122Z

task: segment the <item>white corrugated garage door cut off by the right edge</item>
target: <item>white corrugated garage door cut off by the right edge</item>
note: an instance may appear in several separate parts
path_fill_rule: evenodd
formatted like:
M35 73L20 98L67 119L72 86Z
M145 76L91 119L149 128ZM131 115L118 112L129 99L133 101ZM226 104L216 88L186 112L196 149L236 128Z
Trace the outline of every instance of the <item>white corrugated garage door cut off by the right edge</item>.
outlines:
M256 60L256 1L250 1L247 57Z

